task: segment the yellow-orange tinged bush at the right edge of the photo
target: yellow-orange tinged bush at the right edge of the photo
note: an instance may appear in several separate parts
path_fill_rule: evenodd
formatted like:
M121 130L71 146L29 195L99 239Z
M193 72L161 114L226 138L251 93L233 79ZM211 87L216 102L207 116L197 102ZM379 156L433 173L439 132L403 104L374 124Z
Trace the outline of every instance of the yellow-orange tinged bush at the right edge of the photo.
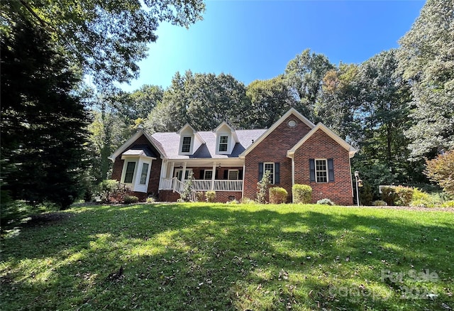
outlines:
M428 178L435 181L449 195L454 195L454 150L426 160Z

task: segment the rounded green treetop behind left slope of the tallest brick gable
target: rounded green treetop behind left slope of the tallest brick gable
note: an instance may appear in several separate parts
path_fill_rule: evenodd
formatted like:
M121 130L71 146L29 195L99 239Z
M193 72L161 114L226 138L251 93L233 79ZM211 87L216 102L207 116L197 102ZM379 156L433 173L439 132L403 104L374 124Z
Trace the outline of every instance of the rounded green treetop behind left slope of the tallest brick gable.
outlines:
M267 129L297 102L279 75L270 80L250 82L246 90L250 100L249 114L243 114L250 129Z

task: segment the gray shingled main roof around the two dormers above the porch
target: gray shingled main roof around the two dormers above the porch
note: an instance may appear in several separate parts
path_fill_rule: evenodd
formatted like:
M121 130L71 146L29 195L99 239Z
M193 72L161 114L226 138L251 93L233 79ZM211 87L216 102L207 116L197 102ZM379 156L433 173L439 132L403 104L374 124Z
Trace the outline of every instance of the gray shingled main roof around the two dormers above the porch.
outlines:
M266 129L236 130L239 143L236 143L231 154L216 154L216 133L212 131L198 131L201 138L205 141L193 155L179 155L179 134L154 133L152 135L158 141L170 159L189 159L189 158L238 158L238 155L245 151L253 141L265 133Z

